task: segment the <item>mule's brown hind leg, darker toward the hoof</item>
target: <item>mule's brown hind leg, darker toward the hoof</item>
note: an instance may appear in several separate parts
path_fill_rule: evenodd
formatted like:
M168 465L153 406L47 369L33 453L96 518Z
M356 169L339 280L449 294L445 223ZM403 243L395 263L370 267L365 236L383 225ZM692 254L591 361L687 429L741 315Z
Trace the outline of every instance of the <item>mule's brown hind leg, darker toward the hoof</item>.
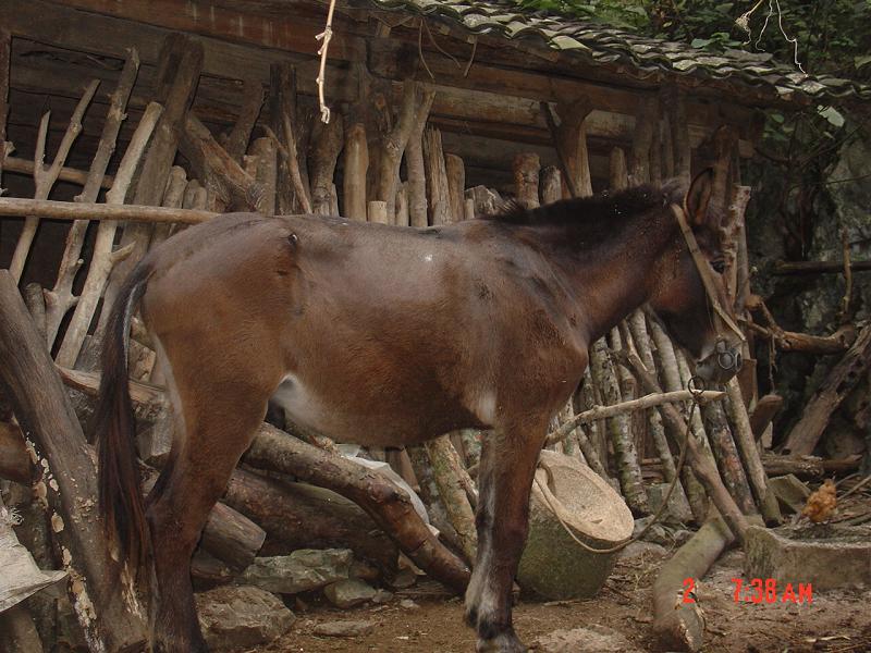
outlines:
M266 412L265 397L257 401L244 391L216 395L213 385L198 390L188 401L181 397L184 434L176 435L146 513L155 562L152 638L161 653L207 651L194 605L191 556Z

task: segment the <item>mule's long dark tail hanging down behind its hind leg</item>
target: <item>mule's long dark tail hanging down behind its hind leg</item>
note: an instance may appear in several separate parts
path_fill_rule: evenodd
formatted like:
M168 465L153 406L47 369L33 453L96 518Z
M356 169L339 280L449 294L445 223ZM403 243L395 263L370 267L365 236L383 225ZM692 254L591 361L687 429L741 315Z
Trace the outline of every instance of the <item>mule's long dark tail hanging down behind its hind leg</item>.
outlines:
M135 419L127 380L127 350L133 311L145 294L151 268L140 263L119 293L106 328L100 397L95 416L99 460L99 505L107 537L115 543L119 562L135 577L148 552ZM146 575L147 577L147 575Z

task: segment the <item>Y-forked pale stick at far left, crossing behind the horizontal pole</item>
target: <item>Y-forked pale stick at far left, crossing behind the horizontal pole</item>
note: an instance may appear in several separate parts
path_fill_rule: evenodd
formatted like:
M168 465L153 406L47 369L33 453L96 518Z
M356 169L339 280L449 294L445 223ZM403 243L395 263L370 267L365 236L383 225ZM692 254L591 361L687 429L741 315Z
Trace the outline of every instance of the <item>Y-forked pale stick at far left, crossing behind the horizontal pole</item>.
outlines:
M34 183L36 184L34 199L47 199L51 193L54 182L58 181L61 174L61 168L63 168L63 164L66 162L66 157L70 153L70 149L73 147L73 143L75 143L78 134L82 133L82 118L85 114L85 109L87 109L90 100L94 98L94 94L97 93L97 87L99 85L99 79L94 79L85 89L82 99L78 101L78 104L76 104L75 111L73 111L72 118L70 118L70 124L63 134L60 147L58 147L58 153L54 156L54 160L49 168L44 165L44 161L46 157L46 134L48 131L50 112L42 116L42 122L39 125L36 155L34 157ZM30 254L30 245L34 242L38 226L39 218L35 215L28 215L24 221L24 229L22 230L21 236L19 236L15 252L12 255L12 262L9 264L9 271L12 273L12 276L15 278L15 281L21 281L21 275L24 272L24 264L27 262L27 256Z

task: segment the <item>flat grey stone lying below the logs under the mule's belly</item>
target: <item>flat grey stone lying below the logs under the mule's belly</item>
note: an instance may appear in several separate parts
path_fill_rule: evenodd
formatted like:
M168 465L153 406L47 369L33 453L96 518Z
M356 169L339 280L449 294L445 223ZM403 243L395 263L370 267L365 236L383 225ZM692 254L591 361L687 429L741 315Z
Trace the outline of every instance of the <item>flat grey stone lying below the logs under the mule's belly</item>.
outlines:
M346 579L353 558L347 549L300 549L291 555L258 557L240 582L279 594L308 592Z

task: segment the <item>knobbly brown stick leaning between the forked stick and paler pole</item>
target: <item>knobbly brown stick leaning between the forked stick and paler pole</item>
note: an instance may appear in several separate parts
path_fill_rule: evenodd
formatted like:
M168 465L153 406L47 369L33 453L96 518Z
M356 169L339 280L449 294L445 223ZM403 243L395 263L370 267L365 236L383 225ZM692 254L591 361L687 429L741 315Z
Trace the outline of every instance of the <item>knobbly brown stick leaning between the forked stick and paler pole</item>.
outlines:
M81 194L75 196L75 201L77 202L93 204L97 201L106 169L109 168L109 160L115 151L115 143L121 131L121 124L126 118L124 111L138 72L139 54L135 49L132 49L124 62L118 86L111 96L112 99L109 104L109 111L106 114L100 143L90 164L88 177L85 180L85 187ZM66 311L76 301L76 298L73 297L73 281L83 263L78 257L82 254L82 246L85 244L87 227L87 220L76 220L70 226L54 287L46 292L46 337L48 338L49 348L54 344L54 338L58 335L61 321L66 316Z

